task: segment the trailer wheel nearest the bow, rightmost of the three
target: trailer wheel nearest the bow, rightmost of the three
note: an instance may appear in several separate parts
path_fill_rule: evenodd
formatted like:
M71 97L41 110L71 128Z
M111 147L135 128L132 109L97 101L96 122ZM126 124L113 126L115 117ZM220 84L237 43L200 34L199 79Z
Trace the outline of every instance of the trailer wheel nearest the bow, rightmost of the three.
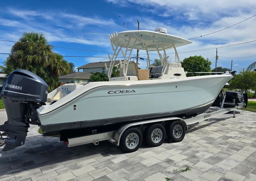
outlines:
M185 126L181 121L174 121L167 127L167 136L173 142L180 142L185 136Z

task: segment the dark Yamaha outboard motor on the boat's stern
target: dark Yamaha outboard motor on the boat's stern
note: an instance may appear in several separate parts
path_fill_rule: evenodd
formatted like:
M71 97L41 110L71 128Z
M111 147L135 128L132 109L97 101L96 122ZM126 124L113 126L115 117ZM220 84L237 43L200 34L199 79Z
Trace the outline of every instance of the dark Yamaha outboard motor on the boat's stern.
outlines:
M25 143L29 124L38 124L36 109L47 101L47 83L32 72L13 71L1 91L8 120L0 126L0 146L3 151Z

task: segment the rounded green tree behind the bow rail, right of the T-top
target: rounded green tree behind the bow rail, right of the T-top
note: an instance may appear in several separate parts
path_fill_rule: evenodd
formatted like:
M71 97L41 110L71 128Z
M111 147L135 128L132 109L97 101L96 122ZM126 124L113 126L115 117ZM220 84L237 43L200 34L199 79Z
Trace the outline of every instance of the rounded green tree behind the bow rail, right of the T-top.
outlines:
M200 56L190 56L185 58L181 65L187 72L211 72L211 62L209 59L205 59ZM207 75L207 74L199 74L199 73L188 73L187 76L197 76L197 75Z

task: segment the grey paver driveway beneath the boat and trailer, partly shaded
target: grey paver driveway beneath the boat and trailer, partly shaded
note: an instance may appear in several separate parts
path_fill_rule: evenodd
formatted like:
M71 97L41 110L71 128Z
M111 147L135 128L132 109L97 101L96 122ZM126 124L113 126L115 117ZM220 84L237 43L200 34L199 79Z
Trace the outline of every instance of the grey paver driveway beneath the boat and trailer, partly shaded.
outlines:
M128 154L108 141L67 148L32 125L25 145L0 151L0 181L256 181L256 113L239 112L202 121L179 143Z

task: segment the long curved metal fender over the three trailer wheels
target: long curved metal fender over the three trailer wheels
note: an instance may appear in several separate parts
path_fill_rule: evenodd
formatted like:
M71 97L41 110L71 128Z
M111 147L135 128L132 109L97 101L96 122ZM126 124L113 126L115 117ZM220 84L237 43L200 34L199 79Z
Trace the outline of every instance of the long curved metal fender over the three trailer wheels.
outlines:
M186 130L188 130L188 127L187 127L185 121L183 119L177 118L177 117L154 119L154 120L147 120L147 121L140 121L140 122L125 124L125 125L121 126L116 131L116 134L115 134L115 137L114 137L114 140L115 140L114 144L119 146L119 142L120 142L120 138L121 138L122 134L125 132L126 129L128 129L128 128L132 127L132 126L139 126L139 125L143 125L143 124L157 123L157 122L175 121L175 120L181 121L185 125Z

